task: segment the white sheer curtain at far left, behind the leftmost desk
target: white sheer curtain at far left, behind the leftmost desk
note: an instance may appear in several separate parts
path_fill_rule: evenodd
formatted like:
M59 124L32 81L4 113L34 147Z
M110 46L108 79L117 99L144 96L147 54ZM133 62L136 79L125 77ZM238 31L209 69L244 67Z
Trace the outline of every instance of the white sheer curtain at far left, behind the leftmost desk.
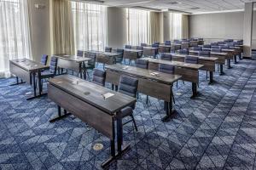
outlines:
M0 1L0 77L9 77L9 59L32 58L27 0Z

